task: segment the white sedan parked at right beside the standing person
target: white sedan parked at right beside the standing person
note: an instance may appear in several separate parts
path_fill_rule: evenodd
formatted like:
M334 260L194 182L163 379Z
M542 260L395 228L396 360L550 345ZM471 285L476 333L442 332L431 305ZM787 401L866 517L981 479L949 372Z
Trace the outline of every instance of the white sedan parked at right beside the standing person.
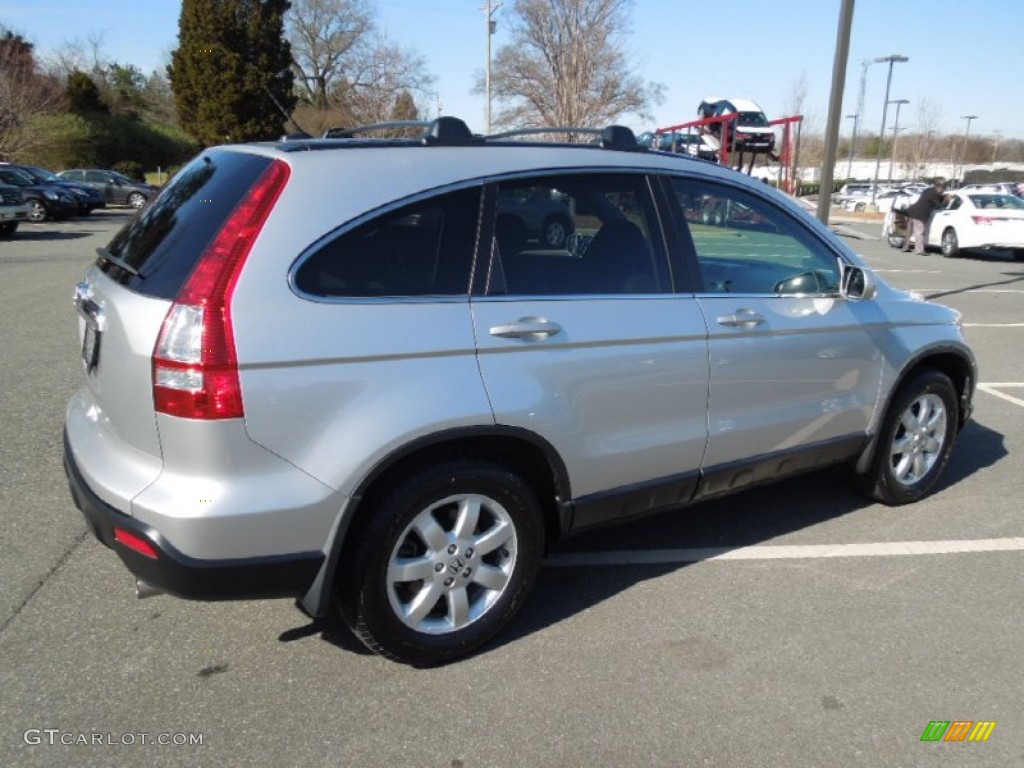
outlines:
M996 248L1024 261L1024 200L998 193L948 193L945 206L932 215L926 241L943 256Z

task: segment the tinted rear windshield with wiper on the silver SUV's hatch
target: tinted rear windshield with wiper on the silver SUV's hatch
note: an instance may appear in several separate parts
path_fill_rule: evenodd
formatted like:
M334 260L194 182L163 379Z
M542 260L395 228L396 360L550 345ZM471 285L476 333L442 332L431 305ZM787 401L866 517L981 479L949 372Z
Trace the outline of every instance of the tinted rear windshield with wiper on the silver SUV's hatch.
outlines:
M173 299L234 206L270 164L247 153L207 152L114 236L100 269L146 296ZM137 273L134 273L137 272Z

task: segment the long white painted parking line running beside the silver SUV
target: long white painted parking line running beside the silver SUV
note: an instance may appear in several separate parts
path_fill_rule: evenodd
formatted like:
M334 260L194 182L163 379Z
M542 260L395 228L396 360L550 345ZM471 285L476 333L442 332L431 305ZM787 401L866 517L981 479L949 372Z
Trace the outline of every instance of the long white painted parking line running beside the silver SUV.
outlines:
M934 542L877 542L873 544L793 544L735 548L696 547L617 552L565 552L548 558L545 564L554 567L671 565L705 560L816 560L830 557L894 557L1021 551L1024 551L1024 537Z

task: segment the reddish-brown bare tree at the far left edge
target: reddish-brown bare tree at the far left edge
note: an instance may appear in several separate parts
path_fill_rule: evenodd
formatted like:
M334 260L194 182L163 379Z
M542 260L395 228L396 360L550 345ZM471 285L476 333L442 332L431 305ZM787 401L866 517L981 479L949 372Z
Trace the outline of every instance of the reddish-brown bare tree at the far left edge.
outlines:
M0 28L0 159L33 148L40 140L33 119L57 111L62 98L59 84L39 72L32 43Z

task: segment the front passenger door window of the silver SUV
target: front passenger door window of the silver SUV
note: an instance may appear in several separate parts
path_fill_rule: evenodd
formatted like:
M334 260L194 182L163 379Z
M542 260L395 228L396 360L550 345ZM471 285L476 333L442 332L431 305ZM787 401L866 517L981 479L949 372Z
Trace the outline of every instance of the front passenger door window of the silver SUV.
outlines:
M709 294L835 293L836 256L767 201L741 189L673 179Z

